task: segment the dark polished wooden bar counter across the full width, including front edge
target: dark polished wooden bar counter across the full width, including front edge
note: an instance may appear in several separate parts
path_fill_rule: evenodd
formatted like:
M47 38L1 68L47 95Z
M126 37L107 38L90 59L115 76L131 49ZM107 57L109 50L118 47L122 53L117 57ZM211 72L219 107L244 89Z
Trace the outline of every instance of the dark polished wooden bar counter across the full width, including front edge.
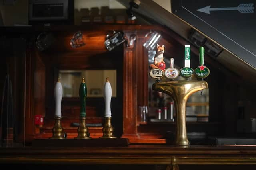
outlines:
M1 147L0 163L256 164L256 146Z

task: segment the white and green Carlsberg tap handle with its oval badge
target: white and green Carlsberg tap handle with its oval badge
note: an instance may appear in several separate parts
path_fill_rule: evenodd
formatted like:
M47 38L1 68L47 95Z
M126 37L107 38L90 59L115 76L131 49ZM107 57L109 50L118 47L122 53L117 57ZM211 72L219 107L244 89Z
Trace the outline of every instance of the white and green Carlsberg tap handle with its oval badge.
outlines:
M185 45L185 67L180 69L180 76L189 78L193 76L194 70L190 68L190 45Z

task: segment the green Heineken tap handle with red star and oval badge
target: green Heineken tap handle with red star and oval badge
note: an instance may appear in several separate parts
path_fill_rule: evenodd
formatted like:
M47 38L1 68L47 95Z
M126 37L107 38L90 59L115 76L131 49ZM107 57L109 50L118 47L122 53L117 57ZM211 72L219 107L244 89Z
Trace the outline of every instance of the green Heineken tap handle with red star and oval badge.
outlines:
M204 66L204 47L199 49L199 64L200 66L195 69L195 76L198 78L206 78L210 74L209 68Z

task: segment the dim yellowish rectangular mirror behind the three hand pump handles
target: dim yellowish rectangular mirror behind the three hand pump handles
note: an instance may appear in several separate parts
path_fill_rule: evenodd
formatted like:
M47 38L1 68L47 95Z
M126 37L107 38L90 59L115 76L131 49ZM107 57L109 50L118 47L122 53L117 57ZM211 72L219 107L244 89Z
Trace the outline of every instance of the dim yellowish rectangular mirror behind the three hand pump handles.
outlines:
M106 78L112 88L112 97L116 97L116 70L60 70L59 77L63 88L63 97L79 97L79 87L85 78L87 97L104 97Z

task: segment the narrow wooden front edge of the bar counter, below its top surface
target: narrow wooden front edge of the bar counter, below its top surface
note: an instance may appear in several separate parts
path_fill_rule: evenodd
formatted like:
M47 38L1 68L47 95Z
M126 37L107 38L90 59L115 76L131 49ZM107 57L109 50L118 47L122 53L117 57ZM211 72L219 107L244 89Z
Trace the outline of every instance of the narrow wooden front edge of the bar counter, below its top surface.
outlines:
M255 157L88 157L88 158L68 158L59 156L58 158L42 158L42 157L1 157L0 163L3 164L26 164L26 163L37 163L37 164L164 164L164 165L250 165L256 164Z

